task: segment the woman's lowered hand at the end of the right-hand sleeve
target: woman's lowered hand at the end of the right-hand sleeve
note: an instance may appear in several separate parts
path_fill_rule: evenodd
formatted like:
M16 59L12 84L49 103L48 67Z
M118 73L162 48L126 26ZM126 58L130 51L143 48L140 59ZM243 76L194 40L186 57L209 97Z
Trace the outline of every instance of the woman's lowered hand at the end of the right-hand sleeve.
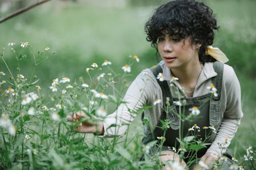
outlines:
M210 169L210 167L212 167L212 165L214 166L215 161L216 161L217 159L218 159L217 156L214 156L214 155L211 154L211 153L206 153L206 154L204 154L204 155L201 157L200 161L202 161L202 162L203 162L206 166L208 166L209 169ZM202 166L200 166L200 165L196 165L196 166L193 168L193 170L201 170L201 169L207 169L207 168L202 167ZM218 168L214 166L214 169L218 169Z

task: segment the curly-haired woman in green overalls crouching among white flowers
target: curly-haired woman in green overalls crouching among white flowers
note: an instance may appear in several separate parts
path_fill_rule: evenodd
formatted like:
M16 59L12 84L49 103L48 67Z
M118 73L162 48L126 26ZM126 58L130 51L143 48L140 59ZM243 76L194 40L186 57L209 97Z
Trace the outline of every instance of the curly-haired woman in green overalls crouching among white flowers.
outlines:
M145 31L147 41L156 48L162 61L156 68L145 69L137 76L124 96L126 104L121 104L104 122L95 125L89 121L77 127L77 131L103 136L121 135L134 119L132 112L150 105L152 108L144 112L148 124L145 125L143 143L165 134L164 147L152 149L153 154L160 152L160 161L179 161L179 155L167 147L179 147L176 138L181 137L181 128L185 134L189 127L193 131L206 127L214 133L207 138L200 132L199 135L211 144L199 150L197 157L206 166L214 164L216 155L225 153L243 116L237 76L231 66L222 64L228 61L226 56L211 46L214 30L218 28L212 10L204 3L184 0L160 6L146 22ZM199 118L181 125L180 106L184 106L185 115L189 115L191 108L192 112L199 113L200 107ZM170 110L166 112L168 107ZM78 112L74 121L85 116ZM170 128L159 128L160 120L167 120ZM121 126L111 127L113 124ZM193 124L197 125L191 127ZM189 158L191 153L184 154ZM183 167L197 169L187 165L186 161L181 161Z

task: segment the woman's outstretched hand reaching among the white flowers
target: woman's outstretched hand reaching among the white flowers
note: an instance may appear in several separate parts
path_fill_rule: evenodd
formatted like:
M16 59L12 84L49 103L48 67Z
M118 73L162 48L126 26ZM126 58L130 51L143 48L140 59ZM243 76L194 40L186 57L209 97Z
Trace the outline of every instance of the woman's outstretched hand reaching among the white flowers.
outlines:
M72 118L73 116L73 118ZM80 120L84 119L77 127L76 132L80 133L96 133L98 135L103 135L104 129L103 129L103 123L102 122L92 122L89 120L89 116L87 116L84 112L79 111L76 112L74 115L67 116L67 119L70 120L70 122L80 122Z

